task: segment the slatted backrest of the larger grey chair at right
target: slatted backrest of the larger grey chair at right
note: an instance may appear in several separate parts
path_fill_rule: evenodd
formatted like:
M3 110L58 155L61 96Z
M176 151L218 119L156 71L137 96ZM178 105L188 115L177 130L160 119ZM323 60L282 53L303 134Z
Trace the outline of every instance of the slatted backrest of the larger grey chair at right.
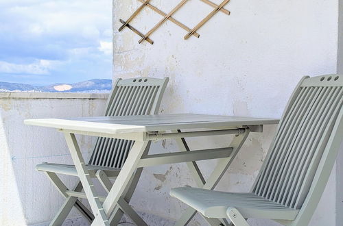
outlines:
M343 76L305 77L294 91L252 192L303 205L343 105Z

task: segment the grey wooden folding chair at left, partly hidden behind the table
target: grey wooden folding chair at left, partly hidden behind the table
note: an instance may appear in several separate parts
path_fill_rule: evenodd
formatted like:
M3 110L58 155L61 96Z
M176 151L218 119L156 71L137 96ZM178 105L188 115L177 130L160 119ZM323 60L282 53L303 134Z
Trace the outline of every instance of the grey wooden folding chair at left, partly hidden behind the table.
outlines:
M134 79L117 79L114 88L106 103L105 116L144 115L157 114L161 103L163 92L167 86L168 78L154 79L148 77ZM121 166L125 162L128 153L134 144L132 140L120 140L112 138L97 139L91 158L86 166L89 175L99 179L105 190L108 192L112 182L108 177L116 177ZM146 152L150 147L147 145ZM82 193L80 180L73 190L65 186L56 173L78 176L75 166L65 164L43 163L36 166L38 171L43 171L56 186L58 191L66 198L58 214L51 221L50 225L62 225L63 221L75 206L80 213L91 223L94 216L78 198L86 199ZM110 224L116 225L123 213L127 214L137 225L146 225L141 217L128 204L137 186L143 168L138 168L130 181L130 188L124 192L124 196L118 201L117 208L110 218Z

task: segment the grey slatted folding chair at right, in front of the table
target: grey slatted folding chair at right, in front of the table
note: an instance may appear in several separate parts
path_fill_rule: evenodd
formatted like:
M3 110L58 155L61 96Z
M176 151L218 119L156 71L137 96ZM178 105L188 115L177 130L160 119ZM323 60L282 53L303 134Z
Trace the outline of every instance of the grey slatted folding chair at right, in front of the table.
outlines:
M251 192L174 188L170 194L208 218L268 218L308 225L343 148L343 75L304 77L279 123Z

